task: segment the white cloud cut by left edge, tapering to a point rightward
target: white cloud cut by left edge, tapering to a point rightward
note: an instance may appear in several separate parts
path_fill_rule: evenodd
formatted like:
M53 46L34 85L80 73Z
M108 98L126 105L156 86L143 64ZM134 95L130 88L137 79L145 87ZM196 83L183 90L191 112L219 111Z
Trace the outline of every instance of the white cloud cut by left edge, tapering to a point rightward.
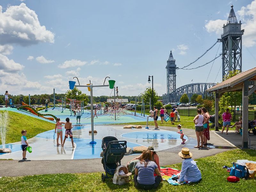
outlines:
M14 60L9 60L8 57L6 57L3 54L0 54L0 70L3 70L3 72L17 72L24 68L23 65L20 63L14 62Z

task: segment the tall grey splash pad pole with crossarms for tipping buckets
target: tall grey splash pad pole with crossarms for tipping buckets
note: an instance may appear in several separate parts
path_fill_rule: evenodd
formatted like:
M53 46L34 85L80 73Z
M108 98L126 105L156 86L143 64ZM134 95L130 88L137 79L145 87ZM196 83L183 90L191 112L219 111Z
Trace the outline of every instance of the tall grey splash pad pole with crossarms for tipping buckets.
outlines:
M75 77L74 77L75 78ZM77 78L77 77L76 77ZM106 77L106 78L110 78L110 77ZM106 78L105 78L105 81L106 81ZM77 81L78 81L78 78L77 78ZM94 124L93 124L93 92L92 92L92 89L93 87L108 87L108 85L105 85L105 81L103 83L103 85L93 85L93 84L89 84L89 85L80 85L79 81L79 85L75 85L76 87L89 87L90 88L90 94L91 94L91 126L92 126L92 141L90 142L90 144L96 144L96 141L94 141ZM114 81L114 80L109 80L109 81ZM108 82L109 82L108 81ZM115 82L115 81L114 81ZM109 82L110 84L110 82ZM114 83L115 84L115 83ZM110 88L110 85L109 85L109 88ZM114 88L114 85L113 85L113 88ZM112 89L113 89L112 88Z

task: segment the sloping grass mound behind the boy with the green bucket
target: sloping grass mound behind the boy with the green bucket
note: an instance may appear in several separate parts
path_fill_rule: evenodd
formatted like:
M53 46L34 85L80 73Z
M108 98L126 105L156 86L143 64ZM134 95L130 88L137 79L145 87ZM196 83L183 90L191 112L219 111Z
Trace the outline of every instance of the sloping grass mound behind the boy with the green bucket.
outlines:
M0 113L3 111L0 111ZM20 113L15 113L13 111L8 111L9 114L9 124L6 133L5 143L12 143L20 141L21 130L27 130L27 138L35 137L38 133L45 132L55 128L55 124L23 115ZM2 144L0 138L0 144Z

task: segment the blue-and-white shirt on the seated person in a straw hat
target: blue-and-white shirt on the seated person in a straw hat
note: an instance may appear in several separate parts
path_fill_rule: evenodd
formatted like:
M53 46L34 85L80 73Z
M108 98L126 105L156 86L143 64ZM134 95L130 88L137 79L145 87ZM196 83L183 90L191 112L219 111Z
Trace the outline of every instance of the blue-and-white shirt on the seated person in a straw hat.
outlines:
M196 162L193 159L184 159L181 165L179 181L197 182L202 178Z

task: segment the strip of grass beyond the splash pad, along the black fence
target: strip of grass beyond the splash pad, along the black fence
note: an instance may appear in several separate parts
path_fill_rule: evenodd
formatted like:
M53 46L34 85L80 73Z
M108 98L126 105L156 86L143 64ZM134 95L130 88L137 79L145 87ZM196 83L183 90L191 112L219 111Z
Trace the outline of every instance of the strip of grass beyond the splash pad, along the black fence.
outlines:
M158 117L160 119L160 117ZM158 126L166 126L166 127L177 127L178 124L181 124L183 128L195 129L195 124L193 122L194 116L180 116L180 122L174 122L174 125L171 124L171 121L167 123L164 121L161 123L161 119L157 121ZM147 125L147 122L136 122L136 123L121 123L126 125ZM231 123L233 124L233 123ZM155 125L154 121L148 121L148 125ZM210 123L211 125L211 123ZM211 129L214 130L214 129ZM235 130L235 128L229 128L229 130Z

